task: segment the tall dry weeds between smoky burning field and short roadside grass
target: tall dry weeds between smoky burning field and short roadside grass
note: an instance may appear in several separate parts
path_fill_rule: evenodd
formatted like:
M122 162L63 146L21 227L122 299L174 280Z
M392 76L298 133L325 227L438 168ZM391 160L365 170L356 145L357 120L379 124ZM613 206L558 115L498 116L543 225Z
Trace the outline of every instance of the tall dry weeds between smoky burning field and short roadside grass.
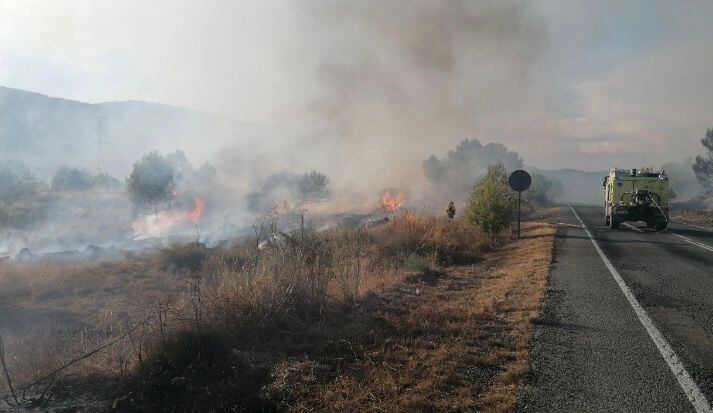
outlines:
M93 274L83 284L95 290L136 277L152 291L140 291L147 303L142 311L117 311L125 314L120 325L94 325L89 334L95 337L94 344L72 353L81 356L104 342L112 346L94 354L92 363L82 359L73 365L71 373L77 376L64 376L62 381L119 379L124 384L113 393L117 403L129 403L121 400L131 393L134 407L147 409L242 406L269 410L274 401L262 389L272 380L275 364L285 357L343 352L352 360L365 357L360 347L364 344L349 338L356 333L351 329L373 327L352 324L354 317L362 314L361 307L372 293L404 279L401 268L430 271L448 263L477 262L494 246L489 237L463 220L419 217L411 212L368 229L336 227L317 232L303 219L300 222L299 228L282 233L276 217L266 217L256 222L253 237L231 247L208 250L198 243L172 245L154 258L136 256L114 264L93 264L87 275L81 268L72 273L46 268L48 275L30 283L29 291L58 288L55 282L60 280L75 283L72 278L79 274ZM161 283L146 284L155 278L140 275L151 265L157 266L151 270L154 274L165 274L158 278ZM183 283L170 277L181 269L190 272ZM107 271L121 273L122 278L102 280ZM3 282L7 280L0 272ZM165 297L166 285L182 285L182 292L177 298ZM17 293L29 300L37 296L25 291ZM58 298L65 293L59 289ZM91 305L88 298L80 303ZM135 314L129 317L132 311ZM130 320L141 317L148 321L131 328L136 323ZM329 367L329 374L346 366L340 363L346 360ZM102 369L102 364L112 367Z

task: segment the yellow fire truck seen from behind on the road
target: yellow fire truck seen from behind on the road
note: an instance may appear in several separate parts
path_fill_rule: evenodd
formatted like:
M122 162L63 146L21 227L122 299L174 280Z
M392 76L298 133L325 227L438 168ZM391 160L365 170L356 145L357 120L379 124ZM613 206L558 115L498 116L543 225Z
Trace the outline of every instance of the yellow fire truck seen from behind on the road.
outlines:
M609 228L619 228L625 221L644 221L657 231L668 226L671 199L665 171L614 168L604 177L602 186L604 221Z

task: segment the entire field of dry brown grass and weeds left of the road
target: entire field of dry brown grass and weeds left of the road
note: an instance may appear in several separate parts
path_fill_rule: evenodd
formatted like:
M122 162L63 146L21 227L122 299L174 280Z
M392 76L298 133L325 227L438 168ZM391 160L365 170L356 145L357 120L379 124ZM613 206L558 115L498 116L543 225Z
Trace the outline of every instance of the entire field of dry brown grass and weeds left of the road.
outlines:
M116 341L32 386L21 403L73 400L87 411L512 408L545 290L551 226L526 225L518 243L412 213L366 229L280 237L274 229L266 219L256 238L212 251L192 244L104 263L3 264L0 315L18 317L3 322L16 389ZM67 317L52 330L63 338L33 340L49 333L13 327L43 311ZM7 383L0 392L9 393Z

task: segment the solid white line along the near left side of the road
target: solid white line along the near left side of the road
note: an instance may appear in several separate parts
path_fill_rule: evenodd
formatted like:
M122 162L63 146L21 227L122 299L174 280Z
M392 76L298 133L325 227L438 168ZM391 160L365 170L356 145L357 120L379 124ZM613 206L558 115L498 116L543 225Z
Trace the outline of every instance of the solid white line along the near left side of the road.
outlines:
M693 381L691 375L688 374L686 368L683 366L678 356L673 351L671 345L668 344L668 341L666 341L664 336L654 325L653 321L651 321L651 318L649 318L648 314L646 314L644 308L636 300L636 297L634 297L634 294L626 285L624 279L621 278L619 272L616 270L616 268L614 268L611 261L609 261L609 258L607 258L607 256L604 255L602 249L599 248L599 244L597 244L597 241L595 241L594 237L592 237L592 233L589 232L589 229L587 229L587 226L584 224L584 221L582 221L579 215L577 215L577 211L575 211L571 205L569 206L569 209L572 210L574 216L577 217L577 220L582 224L582 228L584 229L584 232L586 232L589 236L589 239L592 241L594 249L596 249L599 253L599 256L602 258L602 261L604 261L604 265L607 266L607 269L609 269L609 272L611 273L612 277L614 277L614 281L619 284L621 292L624 293L624 297L626 297L626 299L629 301L631 308L634 309L636 316L639 317L639 321L644 326L644 328L646 328L646 331L649 333L649 337L651 337L651 340L653 340L654 344L656 345L656 348L658 348L659 350L659 353L661 353L661 356L663 356L664 360L666 360L666 364L668 364L668 367L671 369L671 372L676 377L676 380L678 380L678 384L683 389L683 392L686 394L686 397L688 397L688 400L693 405L693 408L696 410L697 413L713 412L713 410L711 410L710 404L708 403L708 400L706 400L706 397L703 395L703 393L701 393L701 389L698 388L698 385L696 385L696 383Z

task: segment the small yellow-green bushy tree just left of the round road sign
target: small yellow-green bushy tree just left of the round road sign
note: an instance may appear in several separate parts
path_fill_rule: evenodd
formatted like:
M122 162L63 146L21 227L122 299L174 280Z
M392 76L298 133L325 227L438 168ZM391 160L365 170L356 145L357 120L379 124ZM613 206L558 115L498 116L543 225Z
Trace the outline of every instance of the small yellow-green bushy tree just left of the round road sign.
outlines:
M468 199L468 221L483 232L495 236L510 227L517 211L515 192L508 185L502 163L488 167L485 176L473 187Z

